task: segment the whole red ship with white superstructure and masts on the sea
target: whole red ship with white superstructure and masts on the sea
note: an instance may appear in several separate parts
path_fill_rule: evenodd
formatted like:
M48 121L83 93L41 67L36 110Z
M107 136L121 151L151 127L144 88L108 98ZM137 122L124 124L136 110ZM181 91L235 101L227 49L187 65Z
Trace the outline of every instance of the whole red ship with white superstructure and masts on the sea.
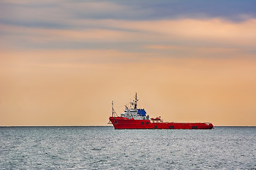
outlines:
M110 122L114 129L213 129L212 123L168 123L158 118L149 118L144 108L137 108L137 94L130 107L125 106L124 113L118 116L112 102ZM110 124L111 124L110 123Z

